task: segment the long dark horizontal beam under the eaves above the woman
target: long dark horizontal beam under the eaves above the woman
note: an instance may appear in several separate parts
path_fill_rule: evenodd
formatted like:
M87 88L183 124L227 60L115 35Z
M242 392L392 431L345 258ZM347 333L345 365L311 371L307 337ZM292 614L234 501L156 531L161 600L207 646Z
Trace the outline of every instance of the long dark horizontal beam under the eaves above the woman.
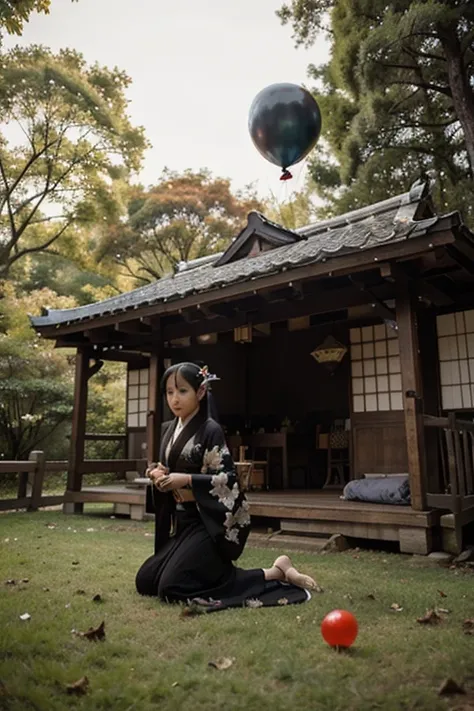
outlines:
M390 285L386 285L382 287L380 293L382 298L389 298L389 295L393 296L394 290ZM234 318L219 316L211 321L202 321L195 324L169 324L163 329L163 340L170 341L173 338L182 338L184 336L200 336L204 333L209 333L209 331L212 331L212 333L232 331L234 328L244 326L247 323L252 325L274 323L297 318L298 316L331 313L341 311L349 306L372 303L373 298L373 295L368 295L362 291L357 292L353 287L334 290L334 293L321 290L319 293L312 294L311 297L306 297L303 301L268 304L262 306L258 311L241 313ZM393 318L393 313L388 309L387 312Z

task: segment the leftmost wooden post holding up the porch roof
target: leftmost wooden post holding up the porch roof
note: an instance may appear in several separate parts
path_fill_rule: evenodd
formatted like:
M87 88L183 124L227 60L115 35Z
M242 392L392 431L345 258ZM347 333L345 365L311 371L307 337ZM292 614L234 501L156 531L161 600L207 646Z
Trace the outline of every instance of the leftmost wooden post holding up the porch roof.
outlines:
M71 448L67 474L67 490L80 491L82 486L81 464L84 462L84 442L87 416L87 381L89 379L89 352L78 348L74 381L74 409L72 413ZM81 503L65 503L64 513L82 513Z

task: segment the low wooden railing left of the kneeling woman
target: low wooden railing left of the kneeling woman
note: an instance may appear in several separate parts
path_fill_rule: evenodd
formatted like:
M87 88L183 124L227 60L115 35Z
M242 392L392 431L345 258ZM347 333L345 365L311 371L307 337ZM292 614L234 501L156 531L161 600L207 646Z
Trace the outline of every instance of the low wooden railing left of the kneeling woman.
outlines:
M105 472L124 473L136 471L143 475L147 463L143 459L86 459L79 465L81 474L102 474ZM0 461L2 474L18 474L16 499L0 499L0 511L28 509L37 511L44 506L56 506L64 503L65 494L43 496L44 477L49 472L66 472L67 461L46 460L44 452L31 452L26 461Z

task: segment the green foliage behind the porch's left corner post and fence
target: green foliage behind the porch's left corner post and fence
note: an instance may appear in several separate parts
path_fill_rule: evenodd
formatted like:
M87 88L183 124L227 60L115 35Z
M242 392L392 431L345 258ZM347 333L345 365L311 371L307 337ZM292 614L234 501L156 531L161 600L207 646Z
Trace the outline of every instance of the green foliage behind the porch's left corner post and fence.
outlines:
M0 299L0 455L25 459L43 449L55 459L67 459L74 387L74 351L55 349L30 326L29 313L43 307L71 308L71 297L50 289L17 292L3 284ZM91 432L125 431L125 366L105 363L89 380L87 428ZM119 454L114 442L88 445L91 459Z

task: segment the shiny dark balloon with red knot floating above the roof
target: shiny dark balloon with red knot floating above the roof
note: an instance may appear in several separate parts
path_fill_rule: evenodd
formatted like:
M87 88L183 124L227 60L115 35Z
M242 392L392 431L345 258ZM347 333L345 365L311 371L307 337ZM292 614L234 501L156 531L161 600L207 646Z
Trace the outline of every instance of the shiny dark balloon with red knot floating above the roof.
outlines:
M249 131L262 156L285 172L314 148L321 133L321 112L303 87L272 84L253 100Z

